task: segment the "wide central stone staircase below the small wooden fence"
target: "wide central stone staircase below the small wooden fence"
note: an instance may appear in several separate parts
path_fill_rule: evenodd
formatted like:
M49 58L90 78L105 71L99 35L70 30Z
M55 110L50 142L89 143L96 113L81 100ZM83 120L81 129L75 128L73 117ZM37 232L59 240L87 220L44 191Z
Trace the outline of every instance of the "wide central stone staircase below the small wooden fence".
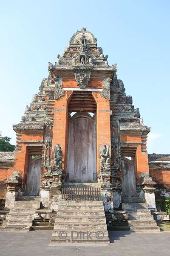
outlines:
M61 242L93 242L108 245L108 230L102 201L61 200L51 243Z

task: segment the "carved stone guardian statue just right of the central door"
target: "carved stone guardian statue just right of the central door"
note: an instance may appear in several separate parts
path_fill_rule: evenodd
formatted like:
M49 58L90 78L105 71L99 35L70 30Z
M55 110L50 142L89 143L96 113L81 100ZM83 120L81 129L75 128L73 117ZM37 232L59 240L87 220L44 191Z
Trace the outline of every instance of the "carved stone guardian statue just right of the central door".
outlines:
M109 154L109 145L102 145L100 148L100 172L110 172L110 154Z

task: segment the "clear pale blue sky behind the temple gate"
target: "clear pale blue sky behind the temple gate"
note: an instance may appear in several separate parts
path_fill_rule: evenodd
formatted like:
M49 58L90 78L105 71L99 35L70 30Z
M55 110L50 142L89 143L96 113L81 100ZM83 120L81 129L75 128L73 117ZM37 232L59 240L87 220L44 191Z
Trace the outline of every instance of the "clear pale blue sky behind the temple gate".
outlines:
M170 143L170 1L0 1L0 131L15 143L31 96L48 76L74 32L94 33L117 63L127 95L151 126L148 152L168 154Z

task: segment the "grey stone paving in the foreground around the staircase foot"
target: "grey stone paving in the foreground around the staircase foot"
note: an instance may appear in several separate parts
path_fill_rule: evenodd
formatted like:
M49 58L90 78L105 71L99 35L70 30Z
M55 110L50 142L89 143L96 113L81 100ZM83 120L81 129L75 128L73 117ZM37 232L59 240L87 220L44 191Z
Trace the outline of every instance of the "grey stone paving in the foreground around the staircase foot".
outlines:
M0 256L170 256L170 232L111 231L108 246L48 246L51 231L0 232Z

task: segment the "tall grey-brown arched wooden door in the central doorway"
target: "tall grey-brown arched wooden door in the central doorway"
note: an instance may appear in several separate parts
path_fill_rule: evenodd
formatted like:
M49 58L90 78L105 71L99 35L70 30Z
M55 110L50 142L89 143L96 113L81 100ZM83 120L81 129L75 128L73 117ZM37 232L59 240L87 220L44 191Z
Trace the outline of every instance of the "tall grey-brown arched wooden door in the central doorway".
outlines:
M66 178L74 182L96 181L96 121L88 113L68 120Z

